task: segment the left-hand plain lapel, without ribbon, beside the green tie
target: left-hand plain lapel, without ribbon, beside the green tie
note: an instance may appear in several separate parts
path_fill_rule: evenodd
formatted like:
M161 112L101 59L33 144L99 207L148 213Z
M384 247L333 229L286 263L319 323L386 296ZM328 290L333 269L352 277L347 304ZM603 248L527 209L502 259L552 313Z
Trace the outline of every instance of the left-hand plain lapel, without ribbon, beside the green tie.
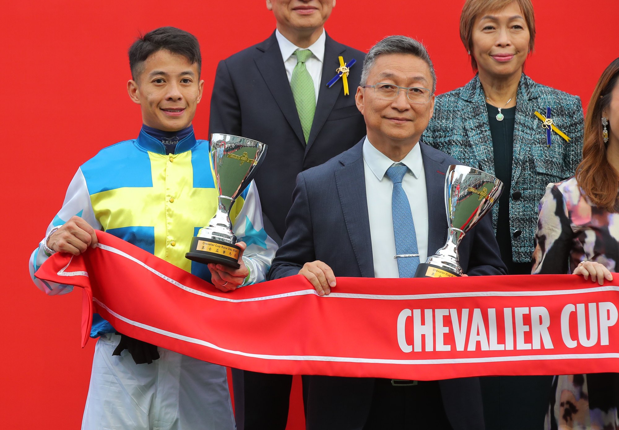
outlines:
M256 66L264 82L269 87L269 91L279 105L279 108L284 114L284 117L290 124L290 127L295 131L298 138L298 143L305 148L305 137L301 128L301 120L297 113L295 99L292 96L290 83L286 75L284 61L282 61L282 51L279 49L275 32L264 43L258 46L259 51L262 51L254 58Z

